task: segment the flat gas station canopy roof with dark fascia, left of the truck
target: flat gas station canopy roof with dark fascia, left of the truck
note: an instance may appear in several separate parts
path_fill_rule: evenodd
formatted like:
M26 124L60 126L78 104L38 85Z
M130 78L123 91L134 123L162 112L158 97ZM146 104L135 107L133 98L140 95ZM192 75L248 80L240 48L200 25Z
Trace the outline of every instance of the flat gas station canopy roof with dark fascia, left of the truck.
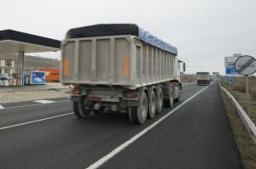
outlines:
M0 31L0 54L42 53L59 51L61 42L20 31Z

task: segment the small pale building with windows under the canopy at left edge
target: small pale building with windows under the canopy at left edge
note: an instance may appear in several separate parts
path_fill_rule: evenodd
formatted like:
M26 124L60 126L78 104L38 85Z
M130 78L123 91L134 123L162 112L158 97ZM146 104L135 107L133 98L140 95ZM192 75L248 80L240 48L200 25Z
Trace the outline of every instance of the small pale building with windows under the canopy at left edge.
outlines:
M15 60L0 56L0 74L13 75L15 73Z

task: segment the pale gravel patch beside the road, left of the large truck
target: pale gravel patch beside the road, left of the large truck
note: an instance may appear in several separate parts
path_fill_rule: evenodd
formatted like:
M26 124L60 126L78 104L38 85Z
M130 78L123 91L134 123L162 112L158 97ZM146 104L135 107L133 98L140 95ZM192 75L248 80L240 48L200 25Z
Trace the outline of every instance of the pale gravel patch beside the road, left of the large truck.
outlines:
M69 89L0 93L0 104L70 96Z

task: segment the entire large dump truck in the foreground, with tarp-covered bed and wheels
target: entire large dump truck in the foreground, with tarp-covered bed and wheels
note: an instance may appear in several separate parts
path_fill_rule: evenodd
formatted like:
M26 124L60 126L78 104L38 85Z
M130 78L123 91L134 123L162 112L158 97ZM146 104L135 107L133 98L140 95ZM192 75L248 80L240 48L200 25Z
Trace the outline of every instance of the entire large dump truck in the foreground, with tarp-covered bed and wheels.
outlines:
M61 42L61 82L75 85L79 118L108 110L143 124L182 93L177 48L137 25L90 25Z

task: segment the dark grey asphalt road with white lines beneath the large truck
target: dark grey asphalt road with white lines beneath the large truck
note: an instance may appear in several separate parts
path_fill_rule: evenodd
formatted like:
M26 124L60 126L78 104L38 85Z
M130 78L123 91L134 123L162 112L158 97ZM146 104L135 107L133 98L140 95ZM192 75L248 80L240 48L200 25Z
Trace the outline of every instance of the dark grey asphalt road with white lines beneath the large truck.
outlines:
M67 99L8 105L0 168L242 168L218 84L204 88L185 87L181 102L142 126L122 114L78 119Z

